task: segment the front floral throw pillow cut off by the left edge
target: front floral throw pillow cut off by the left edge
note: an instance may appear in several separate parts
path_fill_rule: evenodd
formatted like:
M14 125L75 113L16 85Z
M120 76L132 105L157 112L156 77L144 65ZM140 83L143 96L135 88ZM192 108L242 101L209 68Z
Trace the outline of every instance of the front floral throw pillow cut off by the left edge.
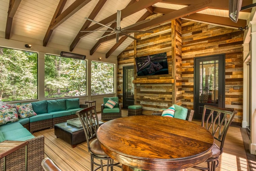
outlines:
M0 125L19 121L16 108L4 108L0 110Z

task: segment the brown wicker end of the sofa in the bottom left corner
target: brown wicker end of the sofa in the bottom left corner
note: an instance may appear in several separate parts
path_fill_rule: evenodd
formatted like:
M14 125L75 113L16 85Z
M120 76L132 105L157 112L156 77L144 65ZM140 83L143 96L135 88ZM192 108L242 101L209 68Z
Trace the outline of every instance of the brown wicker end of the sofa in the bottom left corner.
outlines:
M44 136L27 140L28 143L28 170L43 171L41 162L44 159ZM0 170L3 170L3 160L0 161ZM7 171L25 171L25 147L6 156Z

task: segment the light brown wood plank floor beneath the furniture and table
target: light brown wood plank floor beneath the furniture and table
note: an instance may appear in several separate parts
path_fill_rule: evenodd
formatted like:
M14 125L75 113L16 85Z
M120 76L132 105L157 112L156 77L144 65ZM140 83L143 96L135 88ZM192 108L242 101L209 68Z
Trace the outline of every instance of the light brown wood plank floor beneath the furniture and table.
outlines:
M98 116L100 117L100 114ZM122 111L122 116L127 116L127 111ZM195 123L200 124L199 122ZM70 144L60 138L56 138L54 129L45 129L34 132L33 135L43 135L45 137L45 157L51 158L63 171L90 170L90 154L86 142L78 144L75 148L72 148ZM224 152L219 161L220 163L216 169L217 171L250 170L240 128L229 128L225 140ZM250 162L255 163L255 161ZM201 166L206 165L203 163ZM255 168L251 168L251 170L254 169ZM115 167L114 170L121 171L121 168ZM196 169L188 168L187 170L190 171Z

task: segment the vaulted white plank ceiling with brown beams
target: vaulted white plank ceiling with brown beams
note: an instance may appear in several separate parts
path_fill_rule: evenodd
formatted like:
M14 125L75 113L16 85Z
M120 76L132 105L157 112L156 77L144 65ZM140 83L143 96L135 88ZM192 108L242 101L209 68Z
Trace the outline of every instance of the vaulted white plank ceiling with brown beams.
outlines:
M61 15L60 13L57 13L57 17L55 17L56 20L54 18L54 14L56 13L60 2L64 4L63 9L60 10L62 12L60 13L63 14L66 12L66 16L62 16L61 22L57 18ZM182 12L178 12L179 9L191 5L192 2L194 4L201 4L196 6L199 6L199 10L192 12L192 15L188 13L185 16L183 16ZM25 36L37 40L39 45L49 47L62 45L69 47L70 51L75 48L81 48L90 50L91 54L99 52L106 54L106 57L109 55L118 56L133 41L133 39L127 38L119 44L116 44L115 39L111 39L103 41L97 46L98 40L95 39L100 38L104 32L90 32L90 34L79 37L82 33L80 30L85 30L86 28L90 30L92 25L98 25L92 22L89 25L89 28L83 28L83 25L87 21L85 17L96 14L95 18L92 18L92 20L101 22L107 19L110 15L114 14L116 16L117 10L122 10L122 18L123 9L127 8L130 4L137 3L134 7L138 7L138 10L135 11L135 13L122 18L121 28L136 23L147 12L147 14L163 13L163 15L167 15L167 13L174 10L176 11L174 14L175 16L182 16L184 19L206 23L211 23L211 16L218 16L219 18L215 19L214 24L223 25L224 27L238 28L239 26L245 27L246 20L251 11L250 9L241 11L237 23L225 22L223 19L230 20L228 18L228 0L193 0L192 2L190 0L0 0L0 37L18 40L17 37ZM201 2L211 2L211 5L200 9L200 6L202 6ZM75 3L85 5L82 7L76 5L76 8L70 10L70 5L74 5ZM95 13L94 8L100 3L103 4L103 6L98 13ZM145 6L145 4L148 8L141 8L143 5ZM242 6L249 4L252 4L252 0L243 0ZM9 7L10 12L8 14ZM132 9L134 9L134 7ZM79 9L76 10L77 8ZM168 8L168 12L166 12L166 8ZM193 14L195 12L203 15L200 15L199 18L195 17ZM126 15L125 12L124 15ZM8 16L9 18L7 19ZM59 22L57 27L50 28L50 25L55 24L54 21L57 23ZM153 22L153 25L157 24L159 23L156 21ZM108 26L110 26L110 24L108 24ZM49 29L52 30L51 34L47 33L47 30L49 31ZM106 29L107 28L103 27L98 30ZM135 29L147 30L147 28L143 28L143 26L135 27ZM78 36L78 38L76 38L76 36ZM133 36L133 34L131 34L131 36ZM122 36L120 36L119 40L121 40L121 38ZM74 45L72 45L72 42L75 42ZM97 46L97 48L95 46Z

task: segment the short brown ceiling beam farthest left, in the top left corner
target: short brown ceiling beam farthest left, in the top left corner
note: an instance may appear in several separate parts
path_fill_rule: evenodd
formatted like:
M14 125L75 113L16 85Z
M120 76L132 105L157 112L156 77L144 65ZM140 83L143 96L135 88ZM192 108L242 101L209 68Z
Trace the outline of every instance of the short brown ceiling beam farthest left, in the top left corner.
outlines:
M13 19L14 14L16 13L20 3L21 3L21 0L10 0L10 2L9 2L8 15L7 15L6 27L5 27L5 38L6 39L10 39L12 19Z

